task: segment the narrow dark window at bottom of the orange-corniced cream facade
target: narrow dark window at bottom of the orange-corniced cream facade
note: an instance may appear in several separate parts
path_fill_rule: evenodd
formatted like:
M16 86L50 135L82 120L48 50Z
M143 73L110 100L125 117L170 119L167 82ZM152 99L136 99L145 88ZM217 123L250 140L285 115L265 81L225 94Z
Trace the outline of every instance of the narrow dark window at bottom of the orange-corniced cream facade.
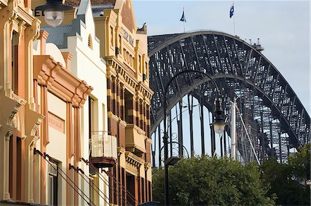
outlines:
M55 163L48 165L48 205L57 205L57 173L58 167Z

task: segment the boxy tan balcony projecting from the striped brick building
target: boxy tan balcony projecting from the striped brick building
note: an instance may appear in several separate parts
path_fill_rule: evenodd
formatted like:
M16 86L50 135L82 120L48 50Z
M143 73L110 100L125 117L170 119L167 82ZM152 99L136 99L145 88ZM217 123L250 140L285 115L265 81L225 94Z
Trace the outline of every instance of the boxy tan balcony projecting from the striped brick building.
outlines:
M136 125L126 125L125 129L125 147L136 156L142 157L146 153L144 144L145 132Z

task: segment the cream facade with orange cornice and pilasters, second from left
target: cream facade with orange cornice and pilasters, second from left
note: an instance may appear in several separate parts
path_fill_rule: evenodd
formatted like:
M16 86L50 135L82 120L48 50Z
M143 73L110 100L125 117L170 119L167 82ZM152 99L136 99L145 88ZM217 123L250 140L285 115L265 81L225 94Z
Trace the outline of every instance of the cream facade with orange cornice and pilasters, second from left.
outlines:
M46 43L41 30L34 43L34 87L37 110L45 118L32 156L33 201L42 205L85 205L82 120L93 87L70 71L71 54ZM86 176L88 178L88 176ZM86 187L88 188L88 187ZM89 200L88 200L89 201Z

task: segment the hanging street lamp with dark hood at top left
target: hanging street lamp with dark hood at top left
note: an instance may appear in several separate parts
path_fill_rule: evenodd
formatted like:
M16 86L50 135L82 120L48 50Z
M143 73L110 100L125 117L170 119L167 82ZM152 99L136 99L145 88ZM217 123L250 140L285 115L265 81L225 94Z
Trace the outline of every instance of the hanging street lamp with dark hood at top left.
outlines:
M71 10L73 7L65 5L62 0L47 0L46 4L37 6L35 10L44 12L46 23L56 27L64 20L64 11Z

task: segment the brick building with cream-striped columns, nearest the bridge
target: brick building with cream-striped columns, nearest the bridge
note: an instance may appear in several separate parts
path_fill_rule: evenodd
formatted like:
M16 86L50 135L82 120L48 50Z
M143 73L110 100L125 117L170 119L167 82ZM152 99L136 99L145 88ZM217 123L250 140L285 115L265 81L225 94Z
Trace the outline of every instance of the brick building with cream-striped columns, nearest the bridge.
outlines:
M79 6L80 1L66 1ZM132 1L91 1L100 56L106 61L108 132L117 137L117 165L109 168L109 201L151 200L151 138L147 27L137 28Z

